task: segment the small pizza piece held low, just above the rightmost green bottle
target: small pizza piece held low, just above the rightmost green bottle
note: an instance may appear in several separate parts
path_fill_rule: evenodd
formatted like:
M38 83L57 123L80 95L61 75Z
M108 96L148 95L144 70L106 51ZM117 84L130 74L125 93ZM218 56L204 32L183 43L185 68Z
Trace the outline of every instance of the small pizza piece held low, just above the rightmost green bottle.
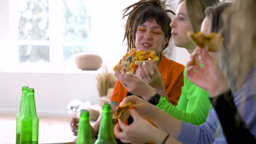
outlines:
M115 107L113 118L120 118L123 121L125 121L130 116L129 106L131 106L130 102L125 105Z

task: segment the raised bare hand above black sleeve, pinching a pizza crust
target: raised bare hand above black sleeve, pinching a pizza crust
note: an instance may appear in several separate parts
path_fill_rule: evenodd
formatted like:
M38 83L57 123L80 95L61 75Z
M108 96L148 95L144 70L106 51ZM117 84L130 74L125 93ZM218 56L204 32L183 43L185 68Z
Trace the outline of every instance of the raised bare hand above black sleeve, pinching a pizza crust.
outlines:
M196 63L197 55L200 55L203 67ZM205 49L197 47L190 57L186 75L191 82L209 92L210 97L216 97L229 90L223 71Z

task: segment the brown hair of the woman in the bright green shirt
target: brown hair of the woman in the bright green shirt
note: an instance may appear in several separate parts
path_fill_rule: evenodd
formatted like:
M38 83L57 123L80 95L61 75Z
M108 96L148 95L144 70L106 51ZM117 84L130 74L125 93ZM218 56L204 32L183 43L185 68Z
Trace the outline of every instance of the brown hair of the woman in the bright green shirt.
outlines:
M183 1L186 2L188 16L194 33L201 29L201 23L205 19L205 9L219 3L219 0L179 0L178 4Z

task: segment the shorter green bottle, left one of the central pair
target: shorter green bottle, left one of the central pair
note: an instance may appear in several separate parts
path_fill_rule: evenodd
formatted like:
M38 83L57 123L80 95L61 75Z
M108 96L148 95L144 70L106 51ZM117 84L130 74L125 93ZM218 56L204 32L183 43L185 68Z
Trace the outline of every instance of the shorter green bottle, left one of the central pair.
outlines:
M89 111L80 111L77 144L92 144L91 125L89 121Z

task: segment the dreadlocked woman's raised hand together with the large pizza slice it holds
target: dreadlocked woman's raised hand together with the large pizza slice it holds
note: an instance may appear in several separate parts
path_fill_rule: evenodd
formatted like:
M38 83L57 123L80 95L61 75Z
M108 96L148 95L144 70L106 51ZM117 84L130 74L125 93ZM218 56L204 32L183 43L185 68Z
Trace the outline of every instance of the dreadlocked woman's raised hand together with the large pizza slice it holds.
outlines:
M156 93L154 89L148 84L148 82L152 80L147 79L148 81L144 81L133 75L135 74L133 65L149 62L149 58L152 59L152 68L155 67L153 62L159 61L159 57L155 55L155 51L136 51L136 49L131 49L129 52L126 52L123 58L120 59L119 63L113 69L115 71L115 76L123 84L128 92L139 95L145 100L148 100ZM148 69L147 71L144 71L144 73L149 74ZM152 74L150 74L150 77L153 78ZM156 73L156 77L158 80L161 79L159 73ZM149 94L146 94L145 92L149 92Z

